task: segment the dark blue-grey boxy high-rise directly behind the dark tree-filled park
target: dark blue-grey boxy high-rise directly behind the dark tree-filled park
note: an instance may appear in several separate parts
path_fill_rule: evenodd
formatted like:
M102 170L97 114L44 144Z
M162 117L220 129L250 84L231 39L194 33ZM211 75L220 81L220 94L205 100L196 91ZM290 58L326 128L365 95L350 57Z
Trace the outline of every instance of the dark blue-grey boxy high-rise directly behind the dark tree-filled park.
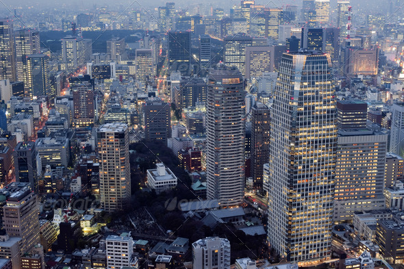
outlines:
M147 140L164 143L171 137L171 107L162 99L151 99L144 105L144 134Z

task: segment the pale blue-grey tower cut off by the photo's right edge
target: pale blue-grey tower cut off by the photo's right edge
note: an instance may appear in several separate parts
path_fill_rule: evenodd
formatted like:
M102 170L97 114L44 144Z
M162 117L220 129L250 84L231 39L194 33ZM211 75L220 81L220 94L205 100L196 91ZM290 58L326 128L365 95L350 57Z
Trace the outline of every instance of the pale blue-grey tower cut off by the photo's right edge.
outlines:
M389 152L404 157L404 103L394 103L392 106Z

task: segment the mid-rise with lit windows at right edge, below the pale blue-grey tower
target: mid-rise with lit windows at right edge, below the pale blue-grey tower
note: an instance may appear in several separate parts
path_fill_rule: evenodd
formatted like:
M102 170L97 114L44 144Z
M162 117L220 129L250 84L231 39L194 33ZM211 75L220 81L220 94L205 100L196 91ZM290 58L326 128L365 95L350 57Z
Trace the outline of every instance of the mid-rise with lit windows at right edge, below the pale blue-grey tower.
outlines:
M387 153L384 170L384 188L393 187L394 183L404 177L404 159L394 153Z

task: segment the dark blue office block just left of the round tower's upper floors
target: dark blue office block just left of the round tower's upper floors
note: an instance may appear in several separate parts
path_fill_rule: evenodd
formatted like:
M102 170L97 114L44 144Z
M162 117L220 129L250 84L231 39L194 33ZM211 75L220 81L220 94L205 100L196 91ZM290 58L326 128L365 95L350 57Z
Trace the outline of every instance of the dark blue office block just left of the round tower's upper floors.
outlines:
M177 108L195 107L206 102L207 84L200 77L181 79L179 92L175 96Z

